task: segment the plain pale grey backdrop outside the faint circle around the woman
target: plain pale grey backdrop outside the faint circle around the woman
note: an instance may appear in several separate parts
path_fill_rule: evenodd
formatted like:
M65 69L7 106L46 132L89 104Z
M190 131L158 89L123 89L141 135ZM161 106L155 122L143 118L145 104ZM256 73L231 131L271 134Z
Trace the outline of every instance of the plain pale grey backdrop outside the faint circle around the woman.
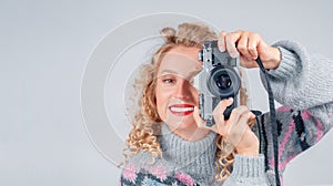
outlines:
M332 8L324 0L0 1L0 185L117 185L120 169L84 130L80 85L92 50L124 21L189 13L221 30L256 31L269 43L296 40L333 59ZM252 95L265 104L264 93ZM333 185L332 140L331 132L291 162L285 185Z

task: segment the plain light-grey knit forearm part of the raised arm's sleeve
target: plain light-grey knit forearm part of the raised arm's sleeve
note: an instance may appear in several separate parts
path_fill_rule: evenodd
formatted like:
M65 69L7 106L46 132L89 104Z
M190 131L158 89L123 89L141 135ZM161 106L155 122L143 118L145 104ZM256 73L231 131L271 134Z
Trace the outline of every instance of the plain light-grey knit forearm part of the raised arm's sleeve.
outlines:
M280 41L282 61L269 76L275 100L293 110L305 110L333 101L333 61L322 55L307 55L293 41ZM263 85L265 80L261 73Z

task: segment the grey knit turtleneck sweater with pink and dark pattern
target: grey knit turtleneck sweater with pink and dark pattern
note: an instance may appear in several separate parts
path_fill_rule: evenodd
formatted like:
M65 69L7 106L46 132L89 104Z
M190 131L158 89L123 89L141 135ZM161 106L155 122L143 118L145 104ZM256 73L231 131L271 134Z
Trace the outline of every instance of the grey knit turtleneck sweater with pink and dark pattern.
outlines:
M300 153L319 142L333 123L333 62L309 58L297 43L274 44L282 52L276 70L269 71L274 97L282 106L276 110L279 128L279 172ZM264 79L262 79L265 85ZM162 125L158 137L162 158L153 161L147 152L132 157L121 174L121 185L274 185L274 156L270 113L259 117L253 131L261 140L259 157L236 155L233 170L224 183L214 179L215 134L199 142L186 142Z

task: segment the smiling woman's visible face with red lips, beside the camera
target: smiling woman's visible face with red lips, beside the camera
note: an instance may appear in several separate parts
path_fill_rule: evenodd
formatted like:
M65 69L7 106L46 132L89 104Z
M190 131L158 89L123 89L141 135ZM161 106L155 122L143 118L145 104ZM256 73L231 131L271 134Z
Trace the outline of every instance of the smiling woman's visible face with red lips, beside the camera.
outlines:
M158 113L175 133L198 130L193 118L198 94L193 76L202 70L199 48L175 46L164 54L157 73L155 97Z

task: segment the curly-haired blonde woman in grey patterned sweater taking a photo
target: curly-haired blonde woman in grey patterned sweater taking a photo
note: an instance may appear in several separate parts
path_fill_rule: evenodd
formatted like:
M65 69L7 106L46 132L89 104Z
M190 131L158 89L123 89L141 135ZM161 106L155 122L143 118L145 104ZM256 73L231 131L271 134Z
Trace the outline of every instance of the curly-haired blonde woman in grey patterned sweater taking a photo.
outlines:
M218 38L200 23L183 23L176 31L164 28L161 34L165 43L137 82L142 93L127 140L130 158L122 185L274 185L269 113L258 118L256 133L249 126L255 116L246 106L238 106L224 120L232 99L214 108L212 127L199 116L192 80L202 70L198 52L206 40L219 40L219 49L231 56L239 53L244 68L256 68L254 60L260 58L270 70L275 99L287 105L276 110L280 173L331 128L333 82L325 70L332 62L310 60L294 42L271 46L248 31L221 32ZM259 134L264 136L261 142ZM232 152L225 149L230 143Z

